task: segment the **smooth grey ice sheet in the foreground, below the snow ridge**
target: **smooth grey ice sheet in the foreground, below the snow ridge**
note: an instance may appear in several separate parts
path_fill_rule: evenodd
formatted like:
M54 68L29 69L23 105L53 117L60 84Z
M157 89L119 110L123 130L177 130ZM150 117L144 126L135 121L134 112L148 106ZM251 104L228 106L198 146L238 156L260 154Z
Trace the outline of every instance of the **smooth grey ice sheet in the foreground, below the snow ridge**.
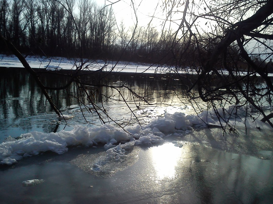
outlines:
M191 137L222 137L219 129L211 135L208 132L207 129L192 131ZM249 137L253 138L256 133L250 132ZM98 204L271 203L272 159L220 151L176 137L169 139L183 144L182 147L167 142L143 148L129 165L129 158L123 162L109 161L102 166L105 172L85 168L98 156L106 156L103 147L95 151L73 148L55 157L43 154L22 160L13 168L2 167L1 200L8 204L18 200L41 204L87 204L90 200ZM256 147L254 144L253 148ZM135 148L138 147L133 146ZM260 153L272 155L269 150ZM37 175L45 180L42 185L22 186L22 181Z

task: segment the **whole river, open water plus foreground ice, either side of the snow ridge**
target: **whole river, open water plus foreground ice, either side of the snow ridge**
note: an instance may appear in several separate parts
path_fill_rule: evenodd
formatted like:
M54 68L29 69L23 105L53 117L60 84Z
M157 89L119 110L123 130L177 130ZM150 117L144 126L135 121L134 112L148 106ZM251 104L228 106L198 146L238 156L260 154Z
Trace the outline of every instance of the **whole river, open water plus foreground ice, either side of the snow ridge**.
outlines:
M85 77L95 80L94 76ZM54 75L41 79L47 86L58 86L67 81ZM58 142L58 133L61 134L63 129L73 130L76 125L87 126L90 137L103 130L97 115L82 109L79 101L71 97L77 93L75 84L68 91L48 91L64 115L74 116L66 123L57 118L34 79L24 69L4 69L0 82L1 142L8 136L18 137L32 131L44 133L35 133L46 137L43 141ZM201 101L197 101L197 104L188 102L183 92L185 87L180 85L178 76L109 75L105 78L105 84L124 84L136 93L146 94L151 105L142 101L134 103L132 95L122 89L127 105L111 88L103 88L102 97L94 94L93 101L111 118L127 122L125 128L136 125L138 121L144 124L143 129L131 128L131 134L145 133L150 135L150 140L144 143L147 135L143 135L140 145L133 140L131 143L134 145L129 149L124 146L124 152L118 146L114 147L116 149L108 147L106 151L103 144L69 146L68 152L63 154L45 150L12 165L1 165L1 203L272 202L273 138L268 126L261 126L262 131L250 127L247 134L244 128L239 127L239 134L230 132L224 137L221 128L194 127L193 122L193 128L177 130L173 126L172 129L170 126L175 122L183 123L185 120L189 124L189 121L197 121L191 116L196 114L192 106L196 110L207 108ZM91 87L87 89L91 90ZM177 111L180 113L173 116L177 117L175 120L171 114ZM158 116L169 119L162 122L163 119L156 119ZM117 128L112 133L119 133L118 126L113 122L111 124ZM145 127L145 124L155 127ZM168 132L169 129L172 132ZM56 132L53 139L50 132ZM164 135L164 140L156 135ZM27 138L18 141L25 142L13 146L21 147L20 151L31 147ZM130 142L123 143L128 147ZM109 150L116 151L115 159L108 159L113 153ZM20 151L17 153L22 154ZM101 165L99 170L95 168L98 165ZM33 179L43 182L33 186L22 185L23 181Z

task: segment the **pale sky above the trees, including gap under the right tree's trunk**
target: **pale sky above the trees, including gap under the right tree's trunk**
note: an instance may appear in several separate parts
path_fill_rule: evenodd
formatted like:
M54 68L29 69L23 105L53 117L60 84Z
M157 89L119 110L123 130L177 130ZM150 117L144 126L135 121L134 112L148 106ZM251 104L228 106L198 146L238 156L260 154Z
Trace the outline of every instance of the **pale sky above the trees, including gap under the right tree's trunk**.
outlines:
M92 0L91 0L92 1ZM160 30L172 30L173 32L179 29L179 24L182 21L184 0L172 0L175 6L172 12L172 23L167 21L166 24L163 24L164 19L168 16L168 11L170 10L170 5L168 5L167 0L93 0L98 5L108 5L112 6L115 13L115 19L117 26L120 27L121 21L125 25L125 29L134 27L136 24L136 16L138 19L138 27L146 27L150 23L152 27ZM204 14L208 11L207 4L204 4L204 1L196 1L195 4L190 1L189 8L187 12L193 12L197 15ZM135 9L135 11L134 11ZM135 16L136 13L136 16ZM151 22L153 16L153 20ZM247 15L246 15L247 16ZM168 16L170 19L170 16ZM190 23L191 19L189 16L186 16L186 20ZM215 21L210 21L204 18L198 18L195 22L196 29L198 32L202 33L203 31L211 32L214 29ZM163 27L164 25L164 27ZM217 26L217 25L216 25ZM192 27L192 31L195 32L195 27ZM180 33L180 32L179 32ZM179 34L178 33L178 34ZM254 49L254 47L260 47L260 50ZM268 52L267 49L256 45L256 42L248 44L246 47L249 52ZM271 52L271 51L270 51ZM264 57L266 58L266 57Z

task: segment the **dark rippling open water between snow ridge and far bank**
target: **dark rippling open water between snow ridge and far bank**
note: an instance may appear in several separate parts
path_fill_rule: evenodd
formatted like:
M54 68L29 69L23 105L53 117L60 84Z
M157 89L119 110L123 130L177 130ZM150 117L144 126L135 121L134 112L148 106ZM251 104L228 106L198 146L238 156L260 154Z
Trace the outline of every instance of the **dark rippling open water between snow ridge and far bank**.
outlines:
M52 101L64 115L75 116L73 119L67 120L66 124L64 120L59 121L57 119L55 112L41 93L41 89L25 69L1 69L0 141L8 136L18 137L20 134L30 131L48 133L62 129L71 130L76 124L88 126L101 124L96 113L88 112L83 104L73 97L81 91L76 88L75 82L64 90L48 90ZM68 77L50 73L41 74L40 78L44 85L49 87L63 86L69 80ZM140 120L145 123L155 116L162 115L168 105L185 109L187 112L194 112L191 108L192 104L189 104L183 93L187 87L181 85L181 80L183 80L183 84L190 83L185 77L182 79L179 76L168 77L166 75L115 74L104 77L82 75L81 79L92 84L97 84L98 79L100 79L100 83L104 85L128 86L151 103L148 105L138 100L126 88L103 87L98 91L96 87L87 86L87 90L97 107L106 110L112 119L121 120L119 122L134 124ZM120 96L118 90L124 98ZM86 96L80 100L91 107ZM138 119L132 115L128 106ZM139 106L141 111L136 106ZM83 113L88 122L84 119ZM105 118L105 121L107 122L108 119Z

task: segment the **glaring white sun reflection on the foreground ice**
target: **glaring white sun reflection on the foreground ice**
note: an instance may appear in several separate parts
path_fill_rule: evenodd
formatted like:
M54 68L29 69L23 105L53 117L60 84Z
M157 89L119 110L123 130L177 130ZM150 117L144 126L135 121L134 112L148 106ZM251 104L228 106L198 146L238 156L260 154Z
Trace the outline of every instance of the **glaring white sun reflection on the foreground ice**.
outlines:
M152 161L159 180L176 177L176 166L181 156L181 148L173 143L152 147Z

